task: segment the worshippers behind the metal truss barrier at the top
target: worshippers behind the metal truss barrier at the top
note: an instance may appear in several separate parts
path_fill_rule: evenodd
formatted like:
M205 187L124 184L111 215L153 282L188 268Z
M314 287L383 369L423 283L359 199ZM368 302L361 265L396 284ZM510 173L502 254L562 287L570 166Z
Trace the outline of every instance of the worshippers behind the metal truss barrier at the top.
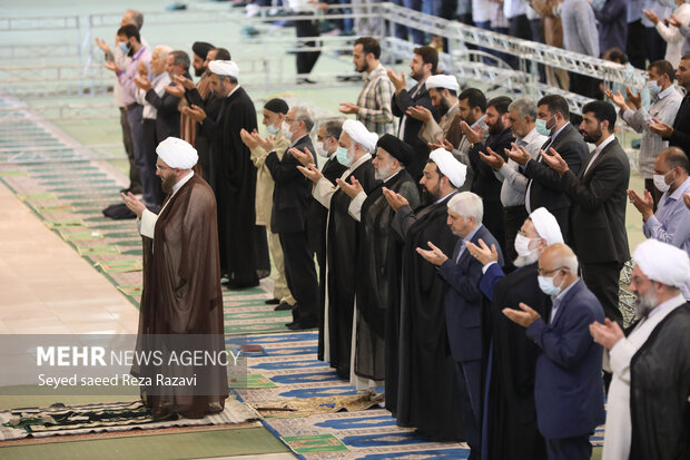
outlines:
M272 4L283 4L296 14L325 10L318 14L321 23L314 18L293 21L297 37L313 37L315 40L322 33L381 37L391 30L401 40L447 51L447 39L427 33L414 25L396 22L388 28L384 21L367 17L367 12L376 11L368 8L377 3L376 0L233 2L247 4L249 17L258 14L256 7ZM521 40L603 58L621 67L647 69L648 62L658 60L667 60L678 67L680 58L690 53L690 4L684 0L393 0L393 3ZM334 8L337 4L339 9ZM287 26L284 21L277 23ZM254 32L258 33L257 30ZM315 47L315 40L304 45ZM476 47L476 50L494 55L512 68L521 69L514 55L485 47ZM312 82L306 76L318 56L318 50L297 52L300 82ZM593 76L541 65L538 71L540 80L550 86L591 98L603 98L604 89Z

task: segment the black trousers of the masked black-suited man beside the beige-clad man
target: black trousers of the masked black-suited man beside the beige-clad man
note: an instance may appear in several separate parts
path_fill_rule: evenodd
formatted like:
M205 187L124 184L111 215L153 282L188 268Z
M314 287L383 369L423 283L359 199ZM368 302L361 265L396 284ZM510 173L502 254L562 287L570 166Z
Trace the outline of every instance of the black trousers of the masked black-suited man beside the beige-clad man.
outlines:
M314 267L314 253L307 243L306 232L279 233L285 278L297 305L294 320L303 325L316 326L318 309L318 282Z

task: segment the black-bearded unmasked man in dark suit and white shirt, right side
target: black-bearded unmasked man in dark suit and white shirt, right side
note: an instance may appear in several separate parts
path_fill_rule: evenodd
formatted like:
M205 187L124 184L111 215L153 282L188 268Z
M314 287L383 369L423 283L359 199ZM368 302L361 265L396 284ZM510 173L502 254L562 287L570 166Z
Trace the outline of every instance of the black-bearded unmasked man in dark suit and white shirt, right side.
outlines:
M630 258L625 232L625 199L630 162L615 139L615 109L595 100L582 108L580 130L597 148L578 175L551 148L544 163L561 176L561 188L572 200L570 229L582 277L604 309L607 317L622 325L618 310L618 282Z

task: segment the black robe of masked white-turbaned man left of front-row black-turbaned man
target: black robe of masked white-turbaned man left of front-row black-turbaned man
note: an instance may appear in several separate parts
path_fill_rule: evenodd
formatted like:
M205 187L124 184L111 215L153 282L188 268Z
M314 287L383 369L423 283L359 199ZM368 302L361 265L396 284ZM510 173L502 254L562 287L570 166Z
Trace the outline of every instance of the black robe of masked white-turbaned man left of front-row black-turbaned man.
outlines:
M365 193L378 180L374 177L371 158L357 166L347 177L355 177ZM337 374L349 378L352 356L352 323L355 304L356 263L359 244L359 223L348 213L349 196L339 188L331 197L326 233L326 316L328 327L328 361Z

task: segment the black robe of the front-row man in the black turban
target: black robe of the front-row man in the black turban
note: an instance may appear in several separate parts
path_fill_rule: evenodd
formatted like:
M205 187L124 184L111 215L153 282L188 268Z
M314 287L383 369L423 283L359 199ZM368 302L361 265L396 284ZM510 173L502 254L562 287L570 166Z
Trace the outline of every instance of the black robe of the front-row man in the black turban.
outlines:
M374 381L384 380L386 311L391 306L388 260L395 245L391 242L391 221L395 212L383 195L383 187L404 196L410 206L420 205L416 183L406 169L377 186L359 212L359 255L357 257L355 374Z

